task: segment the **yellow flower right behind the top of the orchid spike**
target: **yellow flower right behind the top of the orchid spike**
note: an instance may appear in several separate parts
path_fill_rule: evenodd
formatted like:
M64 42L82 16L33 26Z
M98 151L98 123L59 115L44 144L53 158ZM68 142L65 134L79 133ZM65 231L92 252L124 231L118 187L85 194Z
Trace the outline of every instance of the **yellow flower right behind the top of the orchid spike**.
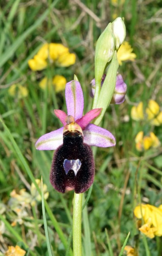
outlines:
M130 44L126 41L122 43L117 52L117 59L119 65L122 65L122 61L131 60L134 61L136 58L136 54L132 53L133 48L131 48Z

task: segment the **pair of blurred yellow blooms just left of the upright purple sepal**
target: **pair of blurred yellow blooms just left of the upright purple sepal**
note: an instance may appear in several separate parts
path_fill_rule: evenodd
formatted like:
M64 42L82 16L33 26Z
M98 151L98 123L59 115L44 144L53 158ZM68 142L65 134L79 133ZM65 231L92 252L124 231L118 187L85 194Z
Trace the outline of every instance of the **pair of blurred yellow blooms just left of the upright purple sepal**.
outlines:
M39 87L44 90L47 86L47 83L48 83L49 90L51 89L51 86L53 85L56 93L59 93L60 91L65 90L67 81L66 81L66 78L62 75L55 75L52 80L49 80L49 79L47 79L47 77L44 77L40 81Z

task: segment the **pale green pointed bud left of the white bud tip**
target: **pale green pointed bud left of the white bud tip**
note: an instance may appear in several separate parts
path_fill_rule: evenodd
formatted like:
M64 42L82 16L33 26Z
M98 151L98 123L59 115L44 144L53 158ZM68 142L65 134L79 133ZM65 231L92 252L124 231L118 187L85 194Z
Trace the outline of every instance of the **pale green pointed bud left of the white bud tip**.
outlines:
M115 49L115 38L111 23L105 28L96 43L95 49L95 79L101 81L106 64L112 59Z

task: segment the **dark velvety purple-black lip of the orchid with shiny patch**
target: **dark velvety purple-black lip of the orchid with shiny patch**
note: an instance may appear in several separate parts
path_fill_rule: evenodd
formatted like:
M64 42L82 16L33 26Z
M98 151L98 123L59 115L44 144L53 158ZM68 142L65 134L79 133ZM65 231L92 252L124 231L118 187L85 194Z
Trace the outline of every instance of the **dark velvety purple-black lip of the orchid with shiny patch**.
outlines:
M65 193L66 188L75 193L85 192L94 181L94 159L89 145L83 143L79 131L64 133L63 145L54 153L50 182L59 192Z

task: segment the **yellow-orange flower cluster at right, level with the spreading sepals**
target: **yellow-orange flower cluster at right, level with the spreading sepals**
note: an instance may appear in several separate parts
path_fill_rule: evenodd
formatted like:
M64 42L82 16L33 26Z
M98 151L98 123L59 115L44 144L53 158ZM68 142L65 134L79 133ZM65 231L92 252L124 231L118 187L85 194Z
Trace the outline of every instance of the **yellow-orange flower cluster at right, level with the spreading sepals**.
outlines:
M154 132L150 132L149 136L144 136L144 132L140 131L136 138L136 149L138 151L148 150L149 148L157 148L160 146L160 141Z

